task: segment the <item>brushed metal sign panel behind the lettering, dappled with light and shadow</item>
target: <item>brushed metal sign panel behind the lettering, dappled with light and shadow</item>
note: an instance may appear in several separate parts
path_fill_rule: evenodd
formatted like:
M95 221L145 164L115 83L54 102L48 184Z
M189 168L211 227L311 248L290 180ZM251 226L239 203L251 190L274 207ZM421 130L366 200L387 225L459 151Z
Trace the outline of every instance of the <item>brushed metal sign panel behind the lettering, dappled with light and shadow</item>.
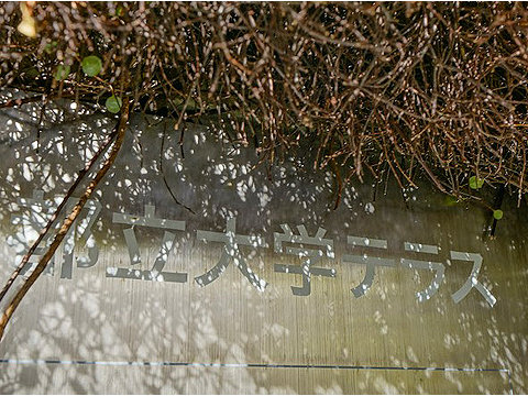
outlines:
M53 199L65 194L116 119L62 101L43 113L38 106L2 110L0 123L6 125L0 133L0 177L4 180L0 222L7 241L0 249L4 257L13 258L23 254L28 240L36 238L31 227L21 228L16 221L38 223L51 215L56 205ZM287 158L268 174L264 166L255 166L258 156L251 148L233 147L198 127L185 131L180 148L179 132L168 121L131 119L125 145L96 193L101 205L97 219L92 224L77 224L76 235L82 243L70 242L75 251L63 246L55 257L54 275L40 279L26 296L0 345L0 359L506 369L515 392L527 392L528 299L522 293L527 273L521 264L528 258L524 244L528 227L516 218L526 215L526 208L519 215L505 211L514 226L501 230L501 240L487 242L479 237L485 219L481 210L444 207L443 197L426 186L408 191L410 209L406 209L392 180L387 194L378 191L376 201L371 182L349 185L341 206L332 210L336 182L330 173L315 173L306 165L315 154L309 150L307 157ZM43 191L47 204L24 207L20 199L31 198L35 190ZM178 254L165 257L167 268L188 273L186 284L151 282L144 287L146 280L105 275L107 267L130 266L123 234L129 226L116 223L112 215L141 217L145 206L154 206L158 218L186 222L174 240L173 251ZM88 209L84 219L90 219ZM20 216L15 223L13 216ZM474 221L463 220L468 216ZM418 302L414 294L430 284L430 273L378 268L369 294L356 299L350 289L364 277L364 268L344 271L344 264L330 260L320 265L333 265L343 279L323 283L315 277L312 294L297 297L290 286L299 285L301 275L276 273L273 265L295 258L293 263L300 267L301 260L286 254L272 257L268 251L252 246L244 246L243 252L251 260L250 267L270 280L265 293L256 292L234 263L215 283L199 288L193 277L218 262L222 245L199 241L196 231L223 232L232 217L237 217L237 233L264 235L270 248L273 233L280 232L284 223L305 224L310 235L318 227L324 228L338 253L350 249L346 235L351 234L386 239L387 254L399 254L404 242L413 238L435 242L444 252L462 248L481 252L480 280L499 302L491 309L472 292L454 305L450 295L465 282L469 270L453 263L448 263L446 273L452 283L444 283L435 299L426 302ZM87 227L94 235L85 240ZM134 232L141 265L152 264L164 231L138 226ZM90 257L94 244L99 246L98 264L75 265L77 256ZM73 263L70 278L61 278L67 260ZM14 258L2 264L2 282L14 264ZM440 382L439 373L421 372L421 382L414 374L383 371L312 370L308 374L307 369L141 370L89 364L9 367L0 371L0 393L509 391L507 373L466 376L446 372ZM494 387L497 384L503 387Z

